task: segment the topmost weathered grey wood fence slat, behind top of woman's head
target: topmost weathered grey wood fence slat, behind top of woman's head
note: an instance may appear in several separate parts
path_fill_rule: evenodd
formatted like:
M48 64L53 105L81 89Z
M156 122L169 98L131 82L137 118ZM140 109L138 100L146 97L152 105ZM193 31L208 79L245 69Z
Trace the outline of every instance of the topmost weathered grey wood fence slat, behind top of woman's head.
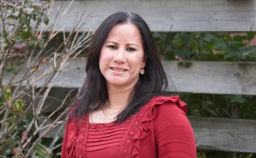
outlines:
M108 15L116 11L131 11L141 15L153 31L249 31L256 30L256 0L106 0L74 1L64 19L59 17L57 30L70 26L80 18L92 15L92 20L80 31L96 29ZM63 3L61 13L70 1L56 1L50 24ZM56 22L55 22L56 23Z

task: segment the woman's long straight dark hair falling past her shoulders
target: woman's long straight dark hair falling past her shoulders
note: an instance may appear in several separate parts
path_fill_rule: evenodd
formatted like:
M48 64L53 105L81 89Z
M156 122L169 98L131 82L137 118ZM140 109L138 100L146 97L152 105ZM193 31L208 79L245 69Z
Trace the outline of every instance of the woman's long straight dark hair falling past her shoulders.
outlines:
M145 74L140 75L134 91L130 95L128 106L118 114L116 122L123 122L126 118L136 114L152 97L160 95L168 87L168 79L150 28L146 22L135 13L118 12L107 17L98 27L90 42L86 62L86 79L80 89L80 95L70 114L76 121L83 120L89 112L102 108L108 99L106 80L100 72L100 50L110 30L116 24L130 23L137 26L142 36L144 56L146 56Z

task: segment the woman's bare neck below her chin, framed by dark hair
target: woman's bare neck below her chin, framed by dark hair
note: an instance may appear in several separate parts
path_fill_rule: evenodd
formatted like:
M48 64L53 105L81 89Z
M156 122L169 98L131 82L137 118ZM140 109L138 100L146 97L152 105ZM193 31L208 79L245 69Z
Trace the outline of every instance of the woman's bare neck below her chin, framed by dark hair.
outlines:
M111 108L122 108L126 106L135 85L131 84L122 88L108 85L108 106Z

